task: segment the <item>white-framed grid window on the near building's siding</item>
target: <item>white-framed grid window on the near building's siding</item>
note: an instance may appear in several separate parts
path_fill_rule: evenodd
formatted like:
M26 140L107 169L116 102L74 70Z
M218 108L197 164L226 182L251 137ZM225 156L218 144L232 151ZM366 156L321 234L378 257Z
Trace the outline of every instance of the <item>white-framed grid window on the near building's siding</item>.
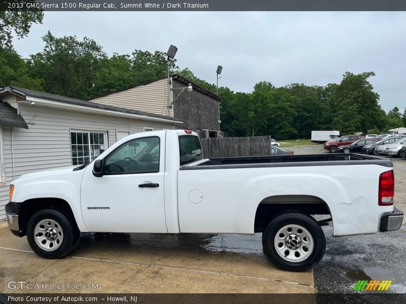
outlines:
M72 131L72 165L91 162L107 148L107 132Z

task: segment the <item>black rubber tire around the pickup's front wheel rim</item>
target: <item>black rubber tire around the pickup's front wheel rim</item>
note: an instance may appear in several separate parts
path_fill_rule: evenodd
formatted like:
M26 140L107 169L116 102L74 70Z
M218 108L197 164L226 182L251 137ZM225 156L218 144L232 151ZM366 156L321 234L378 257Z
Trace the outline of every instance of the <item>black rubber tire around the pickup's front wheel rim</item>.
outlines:
M57 230L61 232L62 240L60 244L56 244L58 240L43 240L45 243L55 244L56 249L49 248L44 250L44 246L37 244L36 238L40 234L36 235L36 226L39 225L42 221L50 219L49 228L53 229L54 226L57 227ZM55 224L56 223L56 224ZM39 225L41 227L41 225ZM47 227L45 227L47 228ZM45 232L45 231L44 231ZM46 233L44 234L44 236ZM76 223L73 220L59 210L54 209L43 209L34 213L27 224L27 241L31 249L43 258L62 258L65 255L69 254L78 244L80 238L80 232L77 229ZM51 245L52 246L52 245ZM53 247L55 247L53 246Z

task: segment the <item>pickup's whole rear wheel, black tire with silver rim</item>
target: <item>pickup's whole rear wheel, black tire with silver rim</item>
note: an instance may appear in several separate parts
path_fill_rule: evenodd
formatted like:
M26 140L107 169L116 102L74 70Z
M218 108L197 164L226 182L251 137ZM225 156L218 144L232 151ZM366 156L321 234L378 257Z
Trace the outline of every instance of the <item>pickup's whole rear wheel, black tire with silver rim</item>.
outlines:
M326 240L310 216L287 212L275 217L262 233L263 252L278 268L305 271L323 257Z

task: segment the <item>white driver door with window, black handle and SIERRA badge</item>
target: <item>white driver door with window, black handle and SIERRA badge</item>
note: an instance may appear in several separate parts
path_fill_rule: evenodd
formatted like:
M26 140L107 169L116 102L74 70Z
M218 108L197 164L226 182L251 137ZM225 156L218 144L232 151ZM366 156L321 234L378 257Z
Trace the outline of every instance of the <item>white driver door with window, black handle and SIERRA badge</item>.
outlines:
M91 232L167 233L164 210L164 138L129 140L102 161L103 176L86 168L81 207Z

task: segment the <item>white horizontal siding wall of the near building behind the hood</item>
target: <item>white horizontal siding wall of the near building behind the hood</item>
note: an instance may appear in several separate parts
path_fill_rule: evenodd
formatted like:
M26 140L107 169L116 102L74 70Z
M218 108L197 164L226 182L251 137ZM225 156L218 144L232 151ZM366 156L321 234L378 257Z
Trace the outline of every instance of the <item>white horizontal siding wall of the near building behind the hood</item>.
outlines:
M12 157L12 128L2 127L5 183L0 184L0 220L5 219L4 206L9 201L9 185L22 174L72 165L71 131L106 132L107 145L116 142L118 130L130 133L142 132L149 125L155 130L171 128L172 123L145 122L116 116L95 115L83 111L70 111L51 107L31 107L19 103L21 116L28 130L14 128L14 170Z

